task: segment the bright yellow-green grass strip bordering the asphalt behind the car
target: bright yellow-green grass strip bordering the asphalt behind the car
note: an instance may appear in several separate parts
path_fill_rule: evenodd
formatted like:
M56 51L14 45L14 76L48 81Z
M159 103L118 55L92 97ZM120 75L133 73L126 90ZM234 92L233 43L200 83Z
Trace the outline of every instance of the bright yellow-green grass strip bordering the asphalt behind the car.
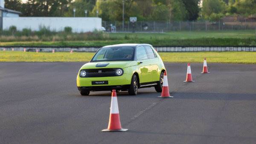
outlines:
M201 63L204 57L208 63L250 63L256 64L256 52L159 52L164 62ZM4 62L87 62L93 52L11 52L0 51Z

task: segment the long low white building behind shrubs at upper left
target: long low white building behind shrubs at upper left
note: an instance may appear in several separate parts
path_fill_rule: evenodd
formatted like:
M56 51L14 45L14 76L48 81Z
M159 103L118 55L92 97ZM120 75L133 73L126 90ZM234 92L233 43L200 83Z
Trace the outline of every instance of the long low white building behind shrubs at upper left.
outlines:
M59 32L69 26L73 32L93 32L102 27L102 19L99 17L19 17L19 14L21 13L5 9L4 0L0 0L0 29L16 26L20 31L24 28L38 31L45 26Z

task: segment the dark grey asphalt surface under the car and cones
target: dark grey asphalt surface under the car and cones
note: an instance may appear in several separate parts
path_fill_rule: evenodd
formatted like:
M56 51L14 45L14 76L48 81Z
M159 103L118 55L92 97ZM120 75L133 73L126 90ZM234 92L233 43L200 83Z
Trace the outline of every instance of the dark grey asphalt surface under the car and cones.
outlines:
M0 63L1 144L255 144L256 65L192 63L196 82L183 83L186 63L165 63L170 93L119 92L127 132L107 128L111 92L81 96L83 63Z

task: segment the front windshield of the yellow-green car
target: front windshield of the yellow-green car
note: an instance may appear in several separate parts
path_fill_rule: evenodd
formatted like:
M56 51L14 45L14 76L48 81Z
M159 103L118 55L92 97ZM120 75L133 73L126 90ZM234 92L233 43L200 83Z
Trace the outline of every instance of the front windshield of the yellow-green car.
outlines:
M133 60L134 47L118 46L101 48L93 57L94 61Z

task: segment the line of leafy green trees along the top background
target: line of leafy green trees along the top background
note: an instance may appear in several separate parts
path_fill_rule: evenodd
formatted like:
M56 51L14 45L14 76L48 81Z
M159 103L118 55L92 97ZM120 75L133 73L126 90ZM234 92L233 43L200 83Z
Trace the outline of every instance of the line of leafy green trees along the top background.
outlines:
M256 0L124 0L125 20L219 20L225 16L256 15ZM5 0L5 7L25 17L102 17L122 20L123 0Z

